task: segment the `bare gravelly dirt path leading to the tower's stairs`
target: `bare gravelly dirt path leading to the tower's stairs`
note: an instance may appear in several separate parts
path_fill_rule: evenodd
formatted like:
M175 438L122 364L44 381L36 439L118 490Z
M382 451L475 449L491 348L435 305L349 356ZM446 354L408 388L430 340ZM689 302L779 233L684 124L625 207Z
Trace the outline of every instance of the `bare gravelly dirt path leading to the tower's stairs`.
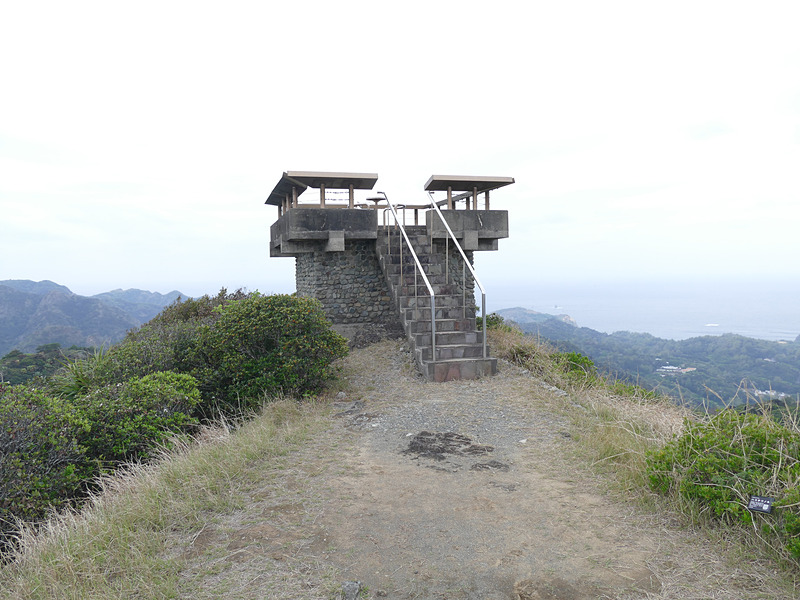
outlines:
M391 342L346 370L334 426L184 549L192 597L330 598L348 580L398 600L790 597L604 493L530 375L427 384Z

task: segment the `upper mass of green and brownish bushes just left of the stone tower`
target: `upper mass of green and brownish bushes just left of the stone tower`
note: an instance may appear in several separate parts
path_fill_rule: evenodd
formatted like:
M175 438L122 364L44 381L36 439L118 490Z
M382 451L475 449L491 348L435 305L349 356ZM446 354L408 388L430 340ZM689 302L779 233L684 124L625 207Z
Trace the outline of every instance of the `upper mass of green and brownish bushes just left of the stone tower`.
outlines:
M111 348L97 368L99 387L174 371L198 381L196 415L240 412L264 394L308 394L333 375L347 352L318 301L258 292L178 300Z

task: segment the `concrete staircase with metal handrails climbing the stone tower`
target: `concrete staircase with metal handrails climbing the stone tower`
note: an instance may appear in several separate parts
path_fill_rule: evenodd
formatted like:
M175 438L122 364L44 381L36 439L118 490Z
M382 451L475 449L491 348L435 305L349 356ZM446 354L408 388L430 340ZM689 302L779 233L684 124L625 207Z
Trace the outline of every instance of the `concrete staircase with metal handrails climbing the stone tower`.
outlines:
M436 306L436 354L431 346L431 299L408 248L403 249L401 277L399 230L392 230L391 252L381 228L375 244L392 300L420 372L428 381L477 379L497 373L497 359L483 358L483 332L475 325L475 307L464 307L460 283L447 281L444 243L433 246L424 226L406 226L406 233L433 287ZM467 294L468 303L473 296Z

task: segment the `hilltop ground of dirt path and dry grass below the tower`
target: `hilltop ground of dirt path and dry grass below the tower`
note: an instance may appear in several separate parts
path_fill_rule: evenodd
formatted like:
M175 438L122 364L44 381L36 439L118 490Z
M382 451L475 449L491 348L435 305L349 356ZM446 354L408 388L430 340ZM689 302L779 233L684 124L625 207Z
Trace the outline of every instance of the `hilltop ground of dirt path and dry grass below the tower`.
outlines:
M76 553L71 568L32 577L30 558L0 597L328 600L351 581L389 600L794 597L763 557L612 491L581 446L622 418L667 439L681 409L557 389L505 361L496 377L429 384L396 341L341 367L320 403L267 405L110 482L38 542ZM93 529L120 521L131 535Z

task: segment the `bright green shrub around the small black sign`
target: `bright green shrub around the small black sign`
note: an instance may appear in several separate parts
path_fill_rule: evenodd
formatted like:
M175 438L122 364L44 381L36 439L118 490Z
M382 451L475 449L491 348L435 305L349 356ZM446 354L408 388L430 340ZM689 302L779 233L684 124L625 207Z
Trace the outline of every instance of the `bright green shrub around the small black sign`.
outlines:
M723 522L752 526L750 496L774 497L775 515L759 519L800 560L800 433L732 409L701 422L647 457L650 486L690 500Z

